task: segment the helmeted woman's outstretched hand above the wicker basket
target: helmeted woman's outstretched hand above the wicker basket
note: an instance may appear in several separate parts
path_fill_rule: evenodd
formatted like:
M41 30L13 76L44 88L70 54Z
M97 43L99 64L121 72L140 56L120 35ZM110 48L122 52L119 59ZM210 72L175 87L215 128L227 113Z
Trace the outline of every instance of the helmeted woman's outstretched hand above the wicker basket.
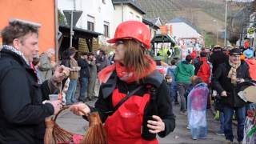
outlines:
M90 114L90 108L84 103L78 103L70 106L70 111L77 115L86 115L86 117Z

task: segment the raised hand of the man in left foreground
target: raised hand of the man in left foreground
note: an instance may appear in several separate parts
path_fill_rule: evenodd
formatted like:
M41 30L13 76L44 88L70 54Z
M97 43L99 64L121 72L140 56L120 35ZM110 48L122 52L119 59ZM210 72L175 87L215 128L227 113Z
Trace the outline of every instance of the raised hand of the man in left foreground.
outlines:
M67 78L70 75L70 68L65 66L58 66L58 68L54 71L54 75L52 80L54 82L62 82L64 78Z

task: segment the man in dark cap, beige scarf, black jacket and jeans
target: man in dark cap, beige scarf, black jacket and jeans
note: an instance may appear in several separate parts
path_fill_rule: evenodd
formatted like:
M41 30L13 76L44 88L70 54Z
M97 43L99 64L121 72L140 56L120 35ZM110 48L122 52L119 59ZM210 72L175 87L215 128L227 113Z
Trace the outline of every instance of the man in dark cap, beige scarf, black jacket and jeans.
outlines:
M243 128L246 119L246 102L238 96L238 83L250 79L249 67L240 60L242 51L238 48L230 50L229 61L220 64L213 75L214 90L221 95L224 112L224 134L228 142L233 142L232 116L238 120L238 142L242 142Z

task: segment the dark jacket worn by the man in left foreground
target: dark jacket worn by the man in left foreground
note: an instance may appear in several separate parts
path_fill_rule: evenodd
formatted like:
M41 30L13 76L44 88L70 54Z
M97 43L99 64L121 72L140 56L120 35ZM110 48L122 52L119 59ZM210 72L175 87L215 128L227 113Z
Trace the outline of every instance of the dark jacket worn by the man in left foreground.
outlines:
M0 143L42 143L44 120L54 114L50 81L38 85L34 70L18 54L0 52Z

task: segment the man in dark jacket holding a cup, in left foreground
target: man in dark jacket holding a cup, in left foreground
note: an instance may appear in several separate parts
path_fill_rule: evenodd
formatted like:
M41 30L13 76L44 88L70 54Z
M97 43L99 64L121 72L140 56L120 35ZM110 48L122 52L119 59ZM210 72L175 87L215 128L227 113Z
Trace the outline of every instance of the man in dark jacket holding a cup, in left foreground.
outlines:
M62 108L59 100L45 101L69 75L59 66L50 80L38 85L30 63L38 52L38 24L12 20L1 33L0 143L43 143L45 118Z

